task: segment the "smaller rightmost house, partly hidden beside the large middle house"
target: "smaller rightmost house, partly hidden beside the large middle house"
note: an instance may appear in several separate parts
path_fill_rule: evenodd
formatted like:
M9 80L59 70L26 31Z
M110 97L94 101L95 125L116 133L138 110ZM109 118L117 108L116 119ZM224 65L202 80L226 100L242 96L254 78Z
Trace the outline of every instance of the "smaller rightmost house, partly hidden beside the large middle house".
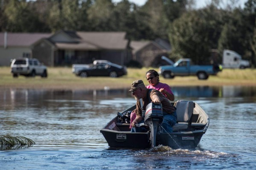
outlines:
M155 41L131 41L132 59L145 67L158 67L162 65L162 56L168 56L171 51L170 44L162 39Z

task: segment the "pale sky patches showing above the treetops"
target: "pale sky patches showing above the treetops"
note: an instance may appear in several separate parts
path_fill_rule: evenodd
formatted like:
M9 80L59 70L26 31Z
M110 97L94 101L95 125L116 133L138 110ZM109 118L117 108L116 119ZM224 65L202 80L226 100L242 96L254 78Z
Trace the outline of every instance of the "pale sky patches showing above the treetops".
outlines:
M121 0L112 0L113 3L118 3ZM142 6L146 3L147 0L129 0L132 3L137 4L138 6ZM208 4L211 0L196 0L196 6L197 8L203 8ZM244 7L244 3L247 2L247 0L238 0L238 6Z

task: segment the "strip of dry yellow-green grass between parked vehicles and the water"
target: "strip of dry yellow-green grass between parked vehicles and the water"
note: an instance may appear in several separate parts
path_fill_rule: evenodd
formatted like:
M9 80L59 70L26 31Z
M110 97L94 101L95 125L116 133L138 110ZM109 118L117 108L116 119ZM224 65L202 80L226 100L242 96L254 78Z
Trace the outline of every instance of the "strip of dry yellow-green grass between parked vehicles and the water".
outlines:
M0 67L0 88L51 88L51 89L103 89L129 88L136 79L142 79L145 85L148 82L145 73L152 68L128 68L128 74L123 77L77 77L71 72L71 68L48 68L48 77L24 77L13 78L9 67ZM157 70L157 68L153 68ZM190 85L241 85L256 86L256 69L224 69L217 76L210 76L207 80L198 80L196 76L175 77L164 79L160 76L160 82L172 86Z

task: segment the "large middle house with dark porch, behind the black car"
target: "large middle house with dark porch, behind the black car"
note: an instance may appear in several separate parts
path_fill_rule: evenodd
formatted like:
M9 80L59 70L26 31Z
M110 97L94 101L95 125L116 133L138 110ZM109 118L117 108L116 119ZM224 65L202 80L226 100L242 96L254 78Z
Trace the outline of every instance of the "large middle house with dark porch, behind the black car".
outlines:
M32 56L46 65L88 64L95 59L126 65L132 59L125 32L58 31L32 45Z

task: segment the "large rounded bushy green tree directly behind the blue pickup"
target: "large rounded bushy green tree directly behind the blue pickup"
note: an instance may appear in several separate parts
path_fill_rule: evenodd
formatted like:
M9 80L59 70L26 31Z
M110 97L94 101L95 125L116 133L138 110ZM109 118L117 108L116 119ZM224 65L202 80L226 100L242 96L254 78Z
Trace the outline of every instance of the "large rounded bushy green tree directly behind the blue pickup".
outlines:
M221 33L221 11L209 6L184 13L170 25L172 56L191 58L195 63L208 63L211 50L218 47Z

